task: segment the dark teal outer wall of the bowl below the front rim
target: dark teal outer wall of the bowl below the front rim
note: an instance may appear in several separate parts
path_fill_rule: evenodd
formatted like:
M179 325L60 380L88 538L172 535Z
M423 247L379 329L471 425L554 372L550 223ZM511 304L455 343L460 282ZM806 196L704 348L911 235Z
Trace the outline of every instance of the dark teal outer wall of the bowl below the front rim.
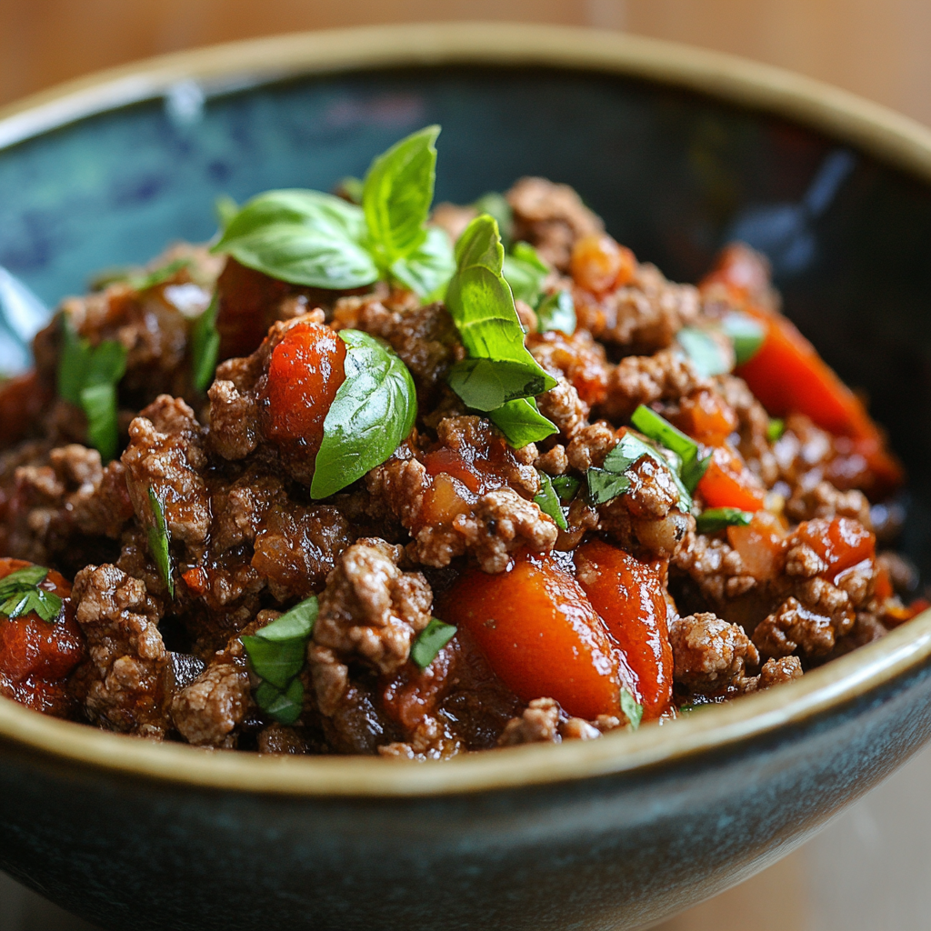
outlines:
M216 792L6 746L0 867L114 931L619 931L788 853L929 735L922 668L691 761L434 799Z

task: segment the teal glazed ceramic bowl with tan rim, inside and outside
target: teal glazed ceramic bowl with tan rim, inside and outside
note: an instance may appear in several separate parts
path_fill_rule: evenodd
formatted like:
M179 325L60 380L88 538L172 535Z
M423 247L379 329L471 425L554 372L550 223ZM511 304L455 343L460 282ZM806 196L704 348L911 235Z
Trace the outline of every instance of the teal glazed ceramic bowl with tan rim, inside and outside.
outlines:
M928 564L931 133L904 117L749 62L501 23L205 49L0 117L0 265L49 304L209 237L216 196L331 188L433 122L439 199L569 182L680 280L748 238L870 393ZM121 931L633 929L785 855L929 735L931 613L662 727L451 762L153 745L0 699L0 867Z

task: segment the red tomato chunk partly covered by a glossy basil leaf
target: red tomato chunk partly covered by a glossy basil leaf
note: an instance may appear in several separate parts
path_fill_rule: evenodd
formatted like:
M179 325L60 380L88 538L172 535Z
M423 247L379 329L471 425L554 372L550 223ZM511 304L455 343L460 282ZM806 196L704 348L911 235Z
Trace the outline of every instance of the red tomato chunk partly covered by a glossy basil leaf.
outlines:
M298 323L272 350L265 434L297 443L316 457L323 422L345 381L346 344L330 327Z

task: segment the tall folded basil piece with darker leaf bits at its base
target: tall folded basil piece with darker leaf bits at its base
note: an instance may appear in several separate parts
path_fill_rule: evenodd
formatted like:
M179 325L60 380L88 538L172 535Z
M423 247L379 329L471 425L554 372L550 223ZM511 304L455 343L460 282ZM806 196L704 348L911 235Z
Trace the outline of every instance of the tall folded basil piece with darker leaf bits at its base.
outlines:
M456 271L446 306L468 357L449 375L452 390L492 422L514 447L557 432L533 396L556 385L527 351L514 297L502 275L505 250L498 225L487 213L476 217L456 243Z

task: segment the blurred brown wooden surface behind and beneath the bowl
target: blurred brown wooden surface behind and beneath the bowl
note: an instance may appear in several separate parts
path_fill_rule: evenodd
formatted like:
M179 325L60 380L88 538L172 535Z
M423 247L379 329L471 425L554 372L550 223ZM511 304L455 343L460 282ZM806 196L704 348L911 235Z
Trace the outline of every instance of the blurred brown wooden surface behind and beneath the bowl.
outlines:
M186 47L462 19L621 29L732 52L931 125L931 0L0 0L0 105ZM662 931L931 929L929 782L925 751L803 850ZM88 927L0 875L0 931Z

